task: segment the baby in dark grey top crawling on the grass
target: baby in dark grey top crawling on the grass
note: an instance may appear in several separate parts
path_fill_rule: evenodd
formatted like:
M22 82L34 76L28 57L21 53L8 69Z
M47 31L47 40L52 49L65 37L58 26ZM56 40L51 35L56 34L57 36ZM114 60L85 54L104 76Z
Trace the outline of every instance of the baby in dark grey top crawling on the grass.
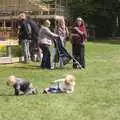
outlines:
M7 85L14 88L15 95L37 94L37 89L33 88L32 83L24 80L23 78L16 78L14 75L8 77Z

